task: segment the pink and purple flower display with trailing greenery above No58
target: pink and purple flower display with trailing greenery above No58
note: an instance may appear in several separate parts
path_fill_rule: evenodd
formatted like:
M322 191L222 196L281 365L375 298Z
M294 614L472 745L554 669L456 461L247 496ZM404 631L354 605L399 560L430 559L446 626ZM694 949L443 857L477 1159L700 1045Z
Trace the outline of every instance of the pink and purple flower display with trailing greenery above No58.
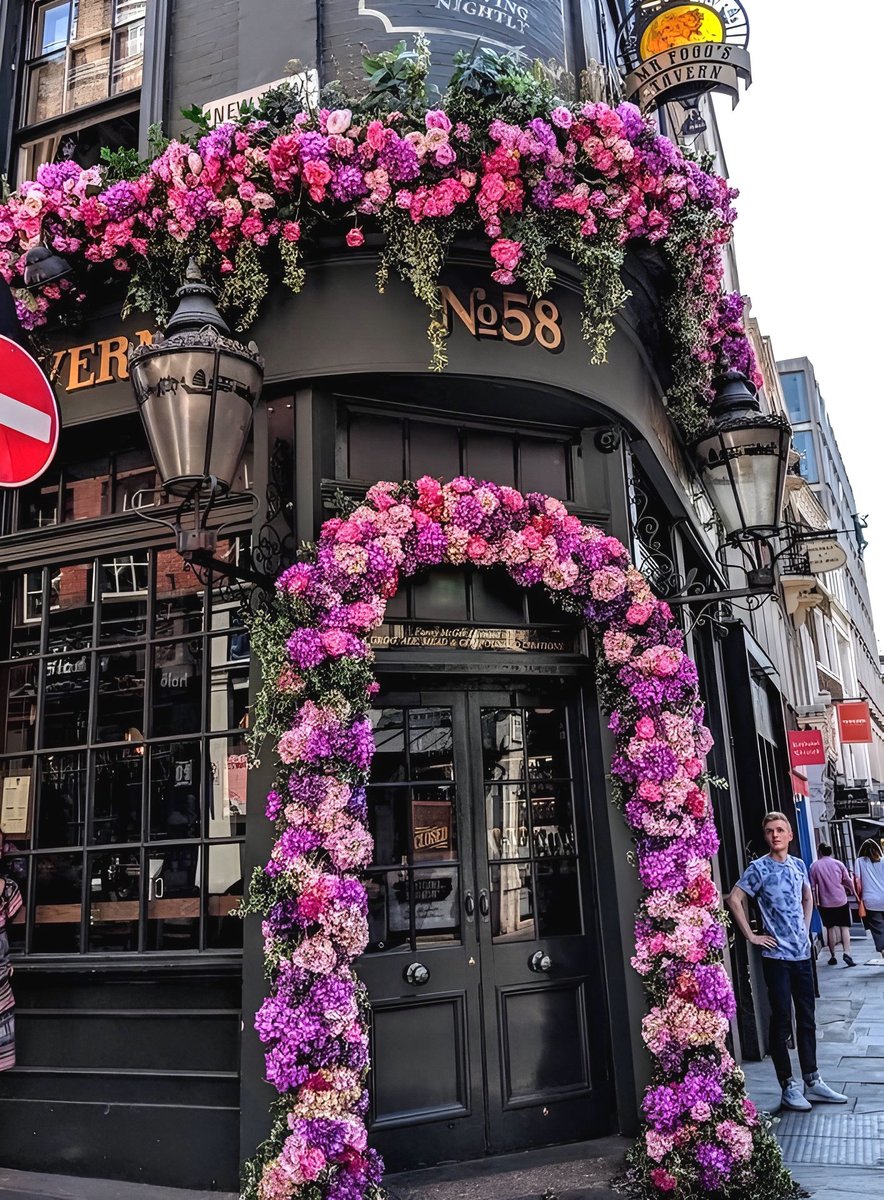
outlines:
M480 234L493 278L535 296L555 282L551 252L576 262L594 362L629 299L630 247L656 245L668 269L667 403L686 436L705 421L715 376L739 370L760 382L742 298L722 287L736 192L635 106L561 103L542 72L487 48L456 60L435 104L420 40L365 64L356 98L332 84L313 108L281 88L239 122L155 138L149 162L119 151L101 167L40 167L0 203L0 272L22 289L24 256L41 241L74 270L38 296L19 292L24 326L64 317L118 272L128 278L127 310L162 324L196 257L242 329L278 276L301 289L318 235L344 222L341 242L357 248L367 222L383 233L379 287L396 271L429 310L434 370L445 365L447 251L458 235Z

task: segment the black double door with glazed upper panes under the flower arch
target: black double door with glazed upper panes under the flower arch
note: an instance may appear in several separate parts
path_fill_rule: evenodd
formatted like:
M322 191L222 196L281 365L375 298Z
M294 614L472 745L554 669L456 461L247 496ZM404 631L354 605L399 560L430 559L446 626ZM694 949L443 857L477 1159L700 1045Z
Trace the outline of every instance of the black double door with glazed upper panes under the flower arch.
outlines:
M381 694L371 1138L389 1170L608 1132L578 706Z

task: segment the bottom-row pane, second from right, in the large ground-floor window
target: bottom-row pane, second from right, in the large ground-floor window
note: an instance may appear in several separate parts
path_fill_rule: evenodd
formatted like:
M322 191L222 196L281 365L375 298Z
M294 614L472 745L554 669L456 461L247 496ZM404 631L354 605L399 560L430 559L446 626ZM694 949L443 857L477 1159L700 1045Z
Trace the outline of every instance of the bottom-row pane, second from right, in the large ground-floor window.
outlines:
M199 846L161 846L148 853L148 949L199 949Z

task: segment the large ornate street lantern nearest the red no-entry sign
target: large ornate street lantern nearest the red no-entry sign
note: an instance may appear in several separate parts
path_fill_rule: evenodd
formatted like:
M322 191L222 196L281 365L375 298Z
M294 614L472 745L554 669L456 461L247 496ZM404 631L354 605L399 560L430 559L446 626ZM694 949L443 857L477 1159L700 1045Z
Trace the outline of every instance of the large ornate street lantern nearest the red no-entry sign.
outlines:
M166 336L130 353L136 391L160 480L173 496L229 492L242 461L264 362L215 306L191 259Z

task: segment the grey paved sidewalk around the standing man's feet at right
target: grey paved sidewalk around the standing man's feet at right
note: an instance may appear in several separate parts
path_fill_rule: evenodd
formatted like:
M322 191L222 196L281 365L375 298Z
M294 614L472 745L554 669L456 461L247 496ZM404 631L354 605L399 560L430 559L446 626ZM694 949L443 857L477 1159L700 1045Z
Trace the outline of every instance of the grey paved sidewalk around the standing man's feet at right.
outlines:
M780 1106L780 1087L769 1058L744 1063L748 1094L759 1109L777 1114L774 1133L795 1178L813 1200L855 1200L884 1195L884 959L864 930L854 936L855 967L837 966L829 953L817 959L817 1054L819 1073L847 1104L814 1104L811 1112ZM793 1051L798 1074L798 1055Z

